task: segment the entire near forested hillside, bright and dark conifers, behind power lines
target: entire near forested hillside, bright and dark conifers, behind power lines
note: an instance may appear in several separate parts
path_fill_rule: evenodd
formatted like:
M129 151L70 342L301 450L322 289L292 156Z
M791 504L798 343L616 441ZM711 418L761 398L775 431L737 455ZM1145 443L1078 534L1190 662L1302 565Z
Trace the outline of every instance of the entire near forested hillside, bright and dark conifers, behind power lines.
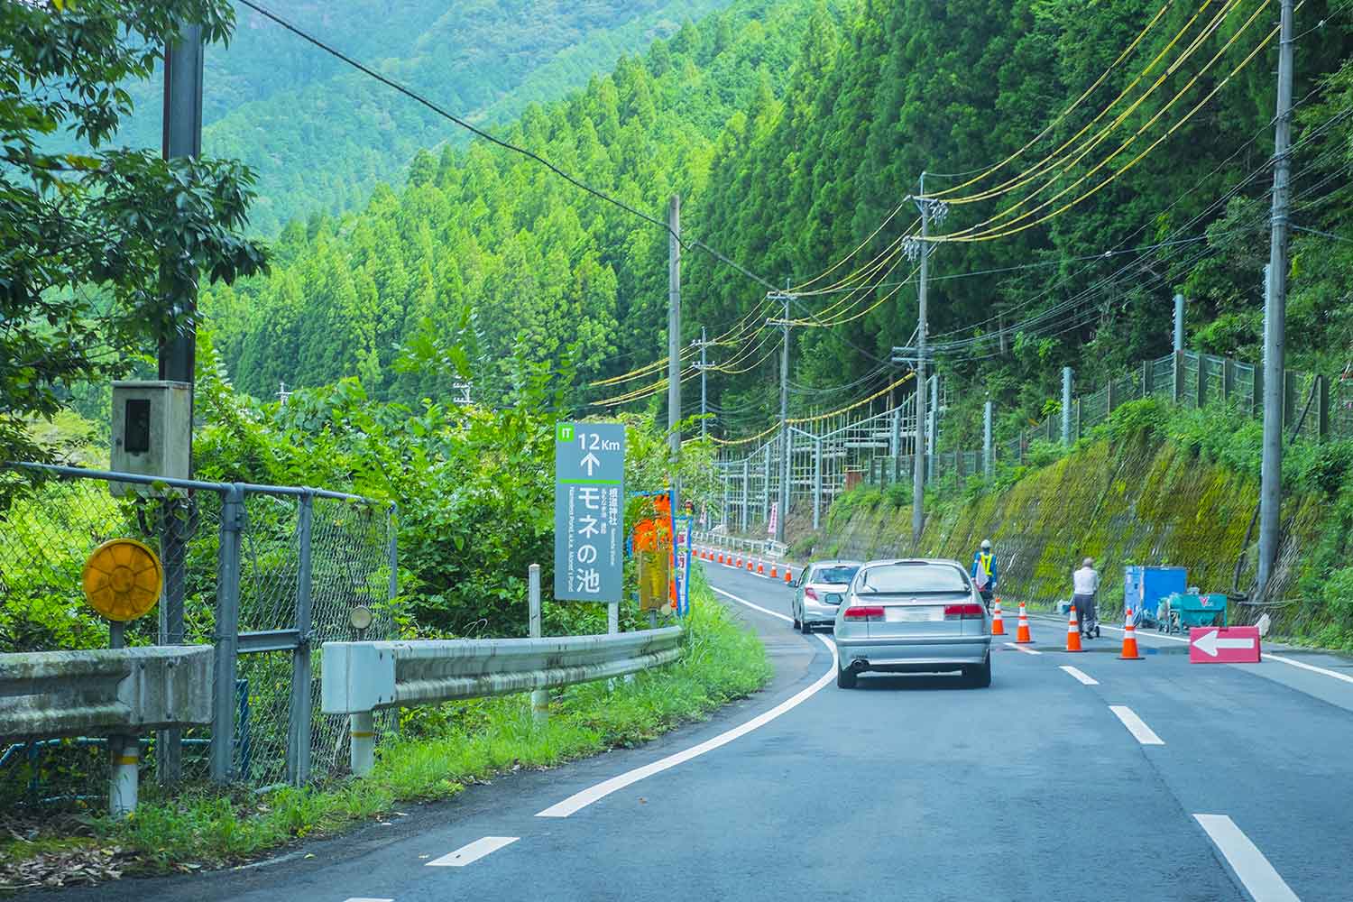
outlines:
M1323 0L1296 24L1289 361L1338 372L1353 28ZM1275 34L1260 0L743 0L505 134L651 215L679 192L686 235L798 287L794 411L896 377L885 361L916 323L907 197L928 172L947 201L930 289L954 399L942 442L971 445L986 396L1005 434L1055 404L1062 365L1095 384L1166 350L1176 291L1191 346L1257 358ZM360 214L291 229L269 279L207 307L248 391L360 375L407 400L444 391L455 360L497 400L526 362L582 385L656 361L666 257L652 224L475 143L422 154ZM700 252L683 283L683 341L725 337L714 434L763 430L764 284ZM659 375L575 399L660 404Z

